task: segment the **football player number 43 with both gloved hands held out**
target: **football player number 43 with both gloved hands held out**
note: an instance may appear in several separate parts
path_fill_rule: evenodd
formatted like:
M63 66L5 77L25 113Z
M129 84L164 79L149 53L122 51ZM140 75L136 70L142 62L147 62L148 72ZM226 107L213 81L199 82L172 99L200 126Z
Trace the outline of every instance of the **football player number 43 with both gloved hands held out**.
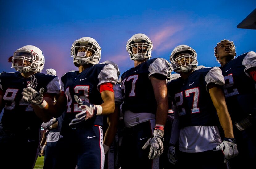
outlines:
M103 116L115 109L113 85L117 72L111 64L98 64L101 48L90 37L76 40L71 47L73 63L78 71L70 71L61 78L62 94L54 106L49 106L43 94L27 88L24 99L39 105L53 117L62 115L57 142L57 168L102 168ZM63 113L64 112L64 113Z

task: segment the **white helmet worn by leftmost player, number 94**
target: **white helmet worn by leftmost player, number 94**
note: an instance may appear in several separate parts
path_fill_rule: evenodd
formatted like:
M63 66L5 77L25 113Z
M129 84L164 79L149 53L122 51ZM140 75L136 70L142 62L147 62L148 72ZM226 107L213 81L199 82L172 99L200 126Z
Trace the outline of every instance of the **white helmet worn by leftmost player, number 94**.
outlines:
M29 64L27 64L27 62ZM12 68L18 72L42 72L44 66L43 52L33 45L26 45L16 50L12 57Z

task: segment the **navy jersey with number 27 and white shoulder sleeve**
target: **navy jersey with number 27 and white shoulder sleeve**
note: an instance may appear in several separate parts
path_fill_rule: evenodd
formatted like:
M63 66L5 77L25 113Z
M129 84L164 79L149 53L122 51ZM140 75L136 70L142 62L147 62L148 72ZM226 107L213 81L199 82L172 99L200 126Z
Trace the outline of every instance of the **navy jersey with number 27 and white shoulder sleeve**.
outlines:
M220 68L199 69L185 80L180 77L168 84L168 94L178 108L180 128L217 125L216 109L207 90L209 83L224 85Z

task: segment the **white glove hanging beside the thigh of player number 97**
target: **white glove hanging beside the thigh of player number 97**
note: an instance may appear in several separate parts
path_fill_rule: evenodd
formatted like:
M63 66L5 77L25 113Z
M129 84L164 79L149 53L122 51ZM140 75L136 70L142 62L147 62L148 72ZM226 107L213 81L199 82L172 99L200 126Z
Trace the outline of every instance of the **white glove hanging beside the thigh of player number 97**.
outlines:
M151 138L147 140L147 142L142 147L143 150L150 145L149 150L149 159L155 159L159 157L163 153L163 134L164 131L160 129L155 129Z

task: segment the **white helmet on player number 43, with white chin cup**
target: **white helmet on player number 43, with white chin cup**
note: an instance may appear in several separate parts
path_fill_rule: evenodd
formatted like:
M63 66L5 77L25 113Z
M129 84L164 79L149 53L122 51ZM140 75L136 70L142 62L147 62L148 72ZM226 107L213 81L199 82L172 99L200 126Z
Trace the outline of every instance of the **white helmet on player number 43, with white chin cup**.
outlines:
M90 37L75 40L70 53L75 65L98 64L101 59L101 47L95 39Z

